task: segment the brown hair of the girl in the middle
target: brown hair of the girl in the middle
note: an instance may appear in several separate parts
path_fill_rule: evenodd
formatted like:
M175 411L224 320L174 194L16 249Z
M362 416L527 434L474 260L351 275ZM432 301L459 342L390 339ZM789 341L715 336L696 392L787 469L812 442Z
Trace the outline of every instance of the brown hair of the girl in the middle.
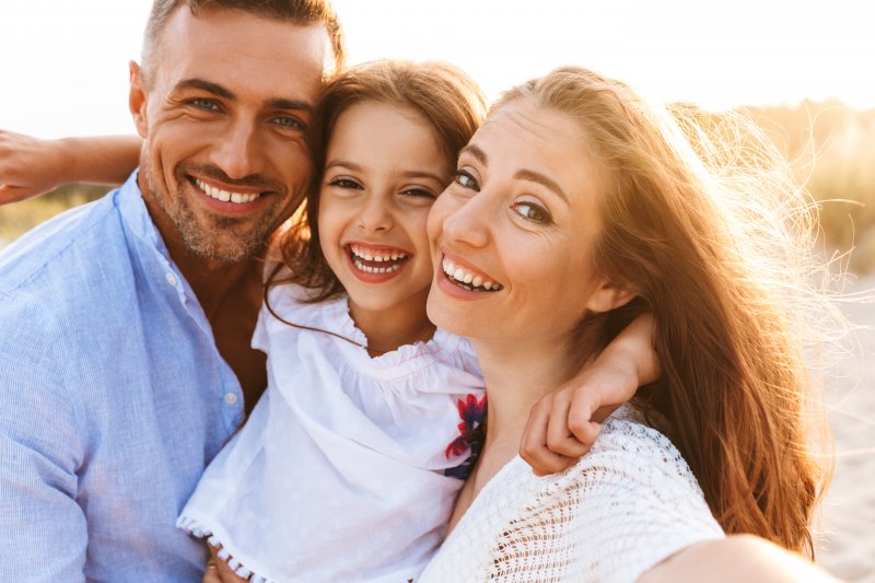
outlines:
M282 270L281 279L279 270L275 270L268 284L298 283L312 291L312 302L343 293L319 247L319 185L326 148L338 117L353 105L366 102L418 112L431 124L451 161L456 160L486 115L486 98L477 84L460 69L442 62L372 61L348 69L331 81L323 94L312 132L315 179L304 209L279 240L282 263L288 269Z

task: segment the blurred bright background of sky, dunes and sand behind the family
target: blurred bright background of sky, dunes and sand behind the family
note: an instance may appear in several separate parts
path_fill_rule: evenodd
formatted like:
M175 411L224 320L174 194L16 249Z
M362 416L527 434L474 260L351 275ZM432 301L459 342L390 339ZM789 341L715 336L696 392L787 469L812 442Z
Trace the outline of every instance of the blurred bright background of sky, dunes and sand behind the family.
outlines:
M820 561L844 580L875 583L875 8L851 0L335 5L353 63L447 60L490 97L578 63L655 100L743 109L758 121L819 202L818 246L841 256L835 267L849 273L842 308L860 329L847 339L849 357L826 371L836 473L820 520ZM139 59L149 7L4 0L0 128L43 138L131 132L127 62ZM0 247L105 190L73 185L0 207Z

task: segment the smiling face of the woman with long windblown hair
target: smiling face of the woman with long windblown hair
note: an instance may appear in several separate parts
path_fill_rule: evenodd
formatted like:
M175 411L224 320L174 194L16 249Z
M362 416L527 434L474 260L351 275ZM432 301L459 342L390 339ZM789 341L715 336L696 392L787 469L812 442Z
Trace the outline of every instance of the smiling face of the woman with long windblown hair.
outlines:
M518 100L462 151L429 215L429 317L474 339L560 342L603 288L591 266L597 177L576 125Z

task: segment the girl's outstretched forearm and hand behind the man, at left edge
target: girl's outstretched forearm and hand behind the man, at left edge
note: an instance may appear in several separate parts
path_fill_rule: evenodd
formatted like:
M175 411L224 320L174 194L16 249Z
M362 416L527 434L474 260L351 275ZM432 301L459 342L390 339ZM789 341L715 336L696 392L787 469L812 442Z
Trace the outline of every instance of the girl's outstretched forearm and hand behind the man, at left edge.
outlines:
M42 140L0 130L0 205L62 184L121 184L137 167L141 145L137 136Z

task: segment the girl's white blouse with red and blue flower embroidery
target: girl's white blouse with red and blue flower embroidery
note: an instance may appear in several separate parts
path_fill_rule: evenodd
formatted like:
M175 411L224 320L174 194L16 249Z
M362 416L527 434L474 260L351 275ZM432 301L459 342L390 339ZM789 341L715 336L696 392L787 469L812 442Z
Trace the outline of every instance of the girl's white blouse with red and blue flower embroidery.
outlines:
M269 301L289 322L366 343L346 299L304 296L282 285ZM253 346L268 354L268 388L177 525L221 544L252 581L418 576L443 539L483 413L470 345L439 329L372 359L262 308Z

